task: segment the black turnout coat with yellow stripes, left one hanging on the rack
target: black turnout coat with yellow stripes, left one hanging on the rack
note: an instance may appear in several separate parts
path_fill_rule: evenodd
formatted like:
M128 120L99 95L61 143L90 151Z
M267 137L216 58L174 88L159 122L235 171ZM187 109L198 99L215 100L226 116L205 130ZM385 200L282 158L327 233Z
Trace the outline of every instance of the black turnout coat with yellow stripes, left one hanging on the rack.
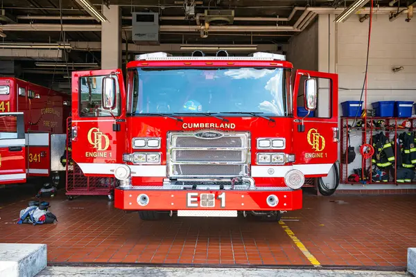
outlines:
M375 134L372 136L372 146L374 148L372 163L376 164L379 168L391 166L392 161L395 161L395 150L393 150L392 144L388 141L387 136L382 132Z

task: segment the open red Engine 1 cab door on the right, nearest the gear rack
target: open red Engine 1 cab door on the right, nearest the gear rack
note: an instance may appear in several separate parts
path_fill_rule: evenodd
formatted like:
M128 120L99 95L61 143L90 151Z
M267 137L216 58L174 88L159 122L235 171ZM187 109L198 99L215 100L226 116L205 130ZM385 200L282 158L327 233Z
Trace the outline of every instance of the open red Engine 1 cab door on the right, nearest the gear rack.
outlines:
M298 108L306 105L309 78L316 82L317 107L306 116ZM293 95L294 167L305 177L326 176L338 159L338 75L297 70Z

